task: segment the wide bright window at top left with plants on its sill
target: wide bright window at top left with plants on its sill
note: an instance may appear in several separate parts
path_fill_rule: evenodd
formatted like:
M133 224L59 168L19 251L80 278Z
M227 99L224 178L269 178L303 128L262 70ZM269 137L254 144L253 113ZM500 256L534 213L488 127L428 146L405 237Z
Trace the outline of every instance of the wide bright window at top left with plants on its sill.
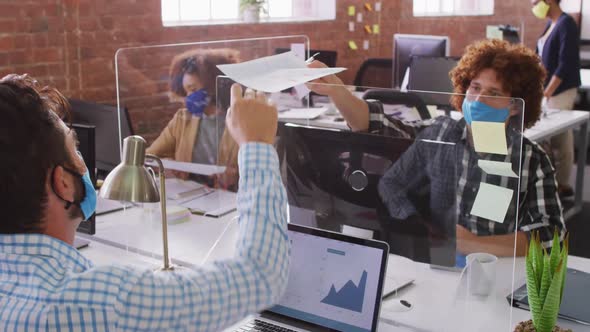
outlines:
M181 17L181 1L187 0L160 0L162 6L162 25L165 27L175 26L198 26L198 25L217 25L217 24L252 24L241 19L239 10L238 17L219 19L213 17L211 13L211 4L218 0L205 0L209 2L208 19L185 19ZM188 0L190 1L190 0ZM203 0L201 0L203 1ZM284 1L284 0L273 0ZM306 22L306 21L327 21L336 19L336 2L338 0L291 0L293 3L292 16L288 17L268 17L261 13L258 23L273 22ZM236 1L239 6L239 0ZM269 12L269 3L265 5L265 10ZM271 11L272 12L272 9ZM167 13L167 15L165 15ZM168 17L165 17L168 16Z

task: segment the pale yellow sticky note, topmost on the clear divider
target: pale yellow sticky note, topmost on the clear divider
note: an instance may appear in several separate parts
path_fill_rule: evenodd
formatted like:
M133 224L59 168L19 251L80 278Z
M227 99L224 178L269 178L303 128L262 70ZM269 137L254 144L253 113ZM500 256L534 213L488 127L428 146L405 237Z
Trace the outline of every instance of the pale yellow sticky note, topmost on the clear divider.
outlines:
M508 154L504 122L471 122L471 134L475 151Z

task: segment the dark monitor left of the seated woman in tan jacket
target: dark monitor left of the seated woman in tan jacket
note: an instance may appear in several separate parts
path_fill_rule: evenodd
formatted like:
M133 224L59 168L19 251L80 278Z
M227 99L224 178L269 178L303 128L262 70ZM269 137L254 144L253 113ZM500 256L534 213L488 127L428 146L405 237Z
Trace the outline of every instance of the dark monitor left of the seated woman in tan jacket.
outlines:
M78 99L69 99L72 122L96 127L96 168L110 172L121 162L119 116L117 107ZM127 109L122 109L121 137L133 135Z

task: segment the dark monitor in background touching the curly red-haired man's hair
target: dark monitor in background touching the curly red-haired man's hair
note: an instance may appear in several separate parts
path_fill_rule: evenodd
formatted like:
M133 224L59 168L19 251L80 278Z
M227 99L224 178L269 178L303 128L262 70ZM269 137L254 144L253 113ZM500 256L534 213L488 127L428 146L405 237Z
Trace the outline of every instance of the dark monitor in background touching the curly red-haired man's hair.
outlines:
M408 91L420 96L426 105L451 109L450 94L436 92L453 92L453 82L449 72L459 62L453 57L412 56L410 60ZM419 92L428 91L428 92Z

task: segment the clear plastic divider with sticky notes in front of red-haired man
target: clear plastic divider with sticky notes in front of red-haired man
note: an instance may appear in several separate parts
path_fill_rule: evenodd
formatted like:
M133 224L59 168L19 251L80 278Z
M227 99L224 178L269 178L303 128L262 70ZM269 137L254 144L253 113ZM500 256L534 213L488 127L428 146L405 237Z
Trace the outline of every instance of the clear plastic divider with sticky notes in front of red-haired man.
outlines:
M228 81L219 77L218 91L230 86ZM529 176L521 161L530 160L522 153L531 148L525 139L523 149L524 101L431 92L433 99L444 95L453 105L477 100L498 110L485 116L474 111L467 125L457 111L445 115L429 106L432 118L424 120L414 107L388 98L363 102L362 95L355 97L355 86L307 86L324 93L341 89L334 94L340 96L346 90L348 99L319 105L324 108L277 105L276 148L290 222L370 234L389 244L391 276L415 279L414 289L397 299L408 296L414 307L400 314L385 302L385 320L417 330L514 327L505 296L523 281L524 264L514 252L522 240L516 236L520 223L526 229L528 221L517 218L520 207L531 203L521 201L530 188L520 187ZM366 112L363 103L371 110L368 128L347 123L354 122L354 113ZM509 241L490 246L489 235ZM348 274L343 270L343 275ZM413 297L416 293L423 295Z

